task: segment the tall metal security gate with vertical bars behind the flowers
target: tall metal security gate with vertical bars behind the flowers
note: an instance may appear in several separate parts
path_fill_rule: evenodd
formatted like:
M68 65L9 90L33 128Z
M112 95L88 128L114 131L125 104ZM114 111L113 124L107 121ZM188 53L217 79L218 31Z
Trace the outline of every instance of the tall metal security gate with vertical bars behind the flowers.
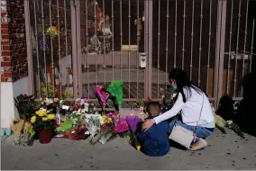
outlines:
M96 85L123 79L125 102L160 100L173 67L215 104L224 93L242 96L254 55L249 0L24 2L38 97L96 100Z

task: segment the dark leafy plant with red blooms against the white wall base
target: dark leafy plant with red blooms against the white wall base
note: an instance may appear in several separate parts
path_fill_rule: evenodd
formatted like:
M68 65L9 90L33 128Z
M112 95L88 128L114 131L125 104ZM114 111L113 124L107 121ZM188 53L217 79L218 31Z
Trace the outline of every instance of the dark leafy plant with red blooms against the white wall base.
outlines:
M20 94L14 101L20 118L25 121L30 121L32 114L39 108L33 95Z

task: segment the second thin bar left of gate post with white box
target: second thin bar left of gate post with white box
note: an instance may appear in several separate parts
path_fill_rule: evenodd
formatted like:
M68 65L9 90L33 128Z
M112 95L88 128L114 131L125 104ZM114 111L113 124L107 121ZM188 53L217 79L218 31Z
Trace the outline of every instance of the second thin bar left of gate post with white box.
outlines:
M131 97L131 68L130 68L130 58L131 58L131 50L130 50L130 45L131 45L131 0L128 1L128 93L129 93L129 98Z

